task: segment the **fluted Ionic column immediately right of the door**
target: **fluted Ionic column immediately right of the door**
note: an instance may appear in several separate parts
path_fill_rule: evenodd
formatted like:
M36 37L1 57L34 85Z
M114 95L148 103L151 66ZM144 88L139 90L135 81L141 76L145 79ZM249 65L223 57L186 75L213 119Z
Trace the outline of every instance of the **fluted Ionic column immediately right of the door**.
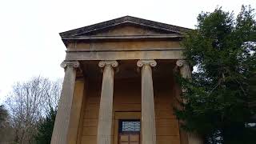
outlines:
M142 144L156 144L154 88L151 66L154 60L139 60L137 66L142 67Z

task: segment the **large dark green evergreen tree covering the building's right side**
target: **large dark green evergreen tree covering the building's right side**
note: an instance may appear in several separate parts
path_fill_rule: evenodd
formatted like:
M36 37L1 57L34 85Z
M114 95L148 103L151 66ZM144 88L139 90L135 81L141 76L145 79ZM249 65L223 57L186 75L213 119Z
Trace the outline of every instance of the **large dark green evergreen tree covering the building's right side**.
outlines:
M242 6L237 18L222 8L202 12L182 46L195 68L192 80L179 78L186 103L175 114L184 121L182 128L200 134L205 143L255 143L254 10Z

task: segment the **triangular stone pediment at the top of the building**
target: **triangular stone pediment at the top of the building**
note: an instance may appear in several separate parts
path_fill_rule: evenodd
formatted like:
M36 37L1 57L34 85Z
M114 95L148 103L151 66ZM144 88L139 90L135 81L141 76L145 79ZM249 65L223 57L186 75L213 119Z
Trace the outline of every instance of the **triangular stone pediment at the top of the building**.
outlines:
M60 33L62 38L183 34L187 28L125 16Z

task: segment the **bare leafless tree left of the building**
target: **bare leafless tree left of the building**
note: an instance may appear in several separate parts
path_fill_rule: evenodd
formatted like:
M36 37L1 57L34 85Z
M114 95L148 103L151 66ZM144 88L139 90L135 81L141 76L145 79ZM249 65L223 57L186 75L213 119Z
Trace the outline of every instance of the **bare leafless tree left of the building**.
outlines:
M60 80L51 82L47 78L36 77L14 85L6 102L14 128L14 142L35 142L38 125L49 113L50 107L57 107L60 83Z

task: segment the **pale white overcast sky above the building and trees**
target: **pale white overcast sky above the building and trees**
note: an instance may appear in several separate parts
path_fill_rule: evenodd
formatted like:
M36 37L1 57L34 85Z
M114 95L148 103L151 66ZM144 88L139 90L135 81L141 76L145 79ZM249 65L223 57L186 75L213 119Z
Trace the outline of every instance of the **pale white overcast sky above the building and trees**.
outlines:
M194 28L201 11L222 6L238 14L242 4L256 8L256 0L2 0L0 104L15 82L64 76L60 32L125 15Z

